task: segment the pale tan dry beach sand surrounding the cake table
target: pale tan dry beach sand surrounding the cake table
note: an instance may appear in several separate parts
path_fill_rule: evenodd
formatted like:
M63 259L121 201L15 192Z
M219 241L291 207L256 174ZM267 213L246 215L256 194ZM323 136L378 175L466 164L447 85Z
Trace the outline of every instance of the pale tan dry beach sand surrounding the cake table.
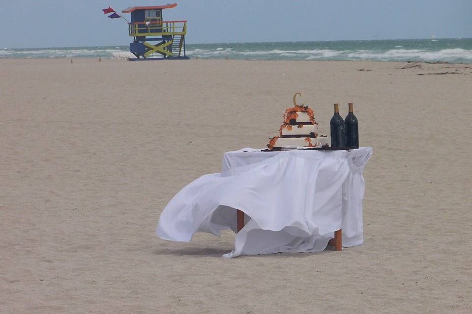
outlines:
M297 91L322 131L354 102L365 244L226 260L230 232L156 237ZM466 64L0 60L0 312L470 314L471 99Z

